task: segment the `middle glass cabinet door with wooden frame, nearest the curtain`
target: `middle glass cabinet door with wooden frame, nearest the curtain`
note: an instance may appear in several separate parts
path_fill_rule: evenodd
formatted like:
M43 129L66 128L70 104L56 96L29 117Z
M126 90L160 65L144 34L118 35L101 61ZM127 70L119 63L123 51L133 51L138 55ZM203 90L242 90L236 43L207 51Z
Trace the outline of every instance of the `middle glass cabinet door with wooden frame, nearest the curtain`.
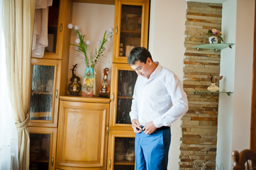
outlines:
M57 127L60 61L31 61L30 124Z

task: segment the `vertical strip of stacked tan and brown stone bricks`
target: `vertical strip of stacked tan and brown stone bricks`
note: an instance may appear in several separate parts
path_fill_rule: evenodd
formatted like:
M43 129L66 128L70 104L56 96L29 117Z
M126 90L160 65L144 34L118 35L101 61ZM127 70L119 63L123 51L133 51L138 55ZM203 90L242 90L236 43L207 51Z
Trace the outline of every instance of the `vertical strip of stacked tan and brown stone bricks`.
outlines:
M200 162L216 161L218 94L193 91L207 91L208 75L219 76L221 53L191 47L208 43L208 29L221 30L221 14L222 4L187 2L183 84L189 111L182 118L179 169L201 169Z

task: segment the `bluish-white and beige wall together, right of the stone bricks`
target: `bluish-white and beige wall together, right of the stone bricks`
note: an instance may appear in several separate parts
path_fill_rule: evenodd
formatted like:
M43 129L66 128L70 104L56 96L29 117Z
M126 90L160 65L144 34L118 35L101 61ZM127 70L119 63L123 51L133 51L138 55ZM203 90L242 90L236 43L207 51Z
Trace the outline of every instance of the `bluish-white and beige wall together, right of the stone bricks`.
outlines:
M217 163L222 169L230 169L233 149L250 148L254 11L254 0L223 3L223 34L235 45L221 52L221 74L227 77L221 88L234 91L219 101Z

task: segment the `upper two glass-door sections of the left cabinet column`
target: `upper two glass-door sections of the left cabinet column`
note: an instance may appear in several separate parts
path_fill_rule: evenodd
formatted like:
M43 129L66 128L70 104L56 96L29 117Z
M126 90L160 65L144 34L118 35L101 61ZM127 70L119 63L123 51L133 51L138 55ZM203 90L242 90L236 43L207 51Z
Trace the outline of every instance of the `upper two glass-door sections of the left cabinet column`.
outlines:
M31 59L29 126L57 128L58 96L67 91L71 0L53 0L48 16L48 47ZM61 84L61 86L60 86Z

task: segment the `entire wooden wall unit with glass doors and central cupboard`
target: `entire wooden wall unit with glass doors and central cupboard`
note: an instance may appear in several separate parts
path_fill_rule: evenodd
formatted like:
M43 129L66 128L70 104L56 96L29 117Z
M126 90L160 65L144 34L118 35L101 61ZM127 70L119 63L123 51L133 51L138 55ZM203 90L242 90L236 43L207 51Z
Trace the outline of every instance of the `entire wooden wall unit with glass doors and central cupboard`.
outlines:
M66 96L72 2L53 0L49 47L43 58L31 59L31 169L135 169L129 112L137 74L127 54L148 47L149 0L116 0L111 104L109 98Z

